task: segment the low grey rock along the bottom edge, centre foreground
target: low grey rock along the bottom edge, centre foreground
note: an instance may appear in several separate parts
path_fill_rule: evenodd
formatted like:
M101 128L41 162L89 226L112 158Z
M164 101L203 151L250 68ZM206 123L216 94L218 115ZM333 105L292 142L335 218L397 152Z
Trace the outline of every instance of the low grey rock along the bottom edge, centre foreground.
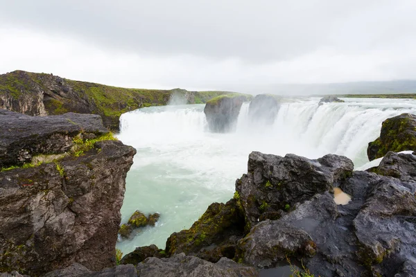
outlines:
M194 256L177 254L171 258L147 258L137 265L141 277L176 277L176 276L218 276L244 277L259 276L253 267L238 264L227 258L221 258L216 263L207 262Z

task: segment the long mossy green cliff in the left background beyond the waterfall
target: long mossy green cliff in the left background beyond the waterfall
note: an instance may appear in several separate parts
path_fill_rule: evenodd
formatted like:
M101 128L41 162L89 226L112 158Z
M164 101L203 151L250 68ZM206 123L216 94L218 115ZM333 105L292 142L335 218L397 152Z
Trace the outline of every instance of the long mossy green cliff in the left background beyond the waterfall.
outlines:
M205 103L224 91L123 89L60 78L52 74L13 71L0 75L0 109L29 116L98 114L105 127L118 131L120 115L141 107L167 105L171 96L183 104Z

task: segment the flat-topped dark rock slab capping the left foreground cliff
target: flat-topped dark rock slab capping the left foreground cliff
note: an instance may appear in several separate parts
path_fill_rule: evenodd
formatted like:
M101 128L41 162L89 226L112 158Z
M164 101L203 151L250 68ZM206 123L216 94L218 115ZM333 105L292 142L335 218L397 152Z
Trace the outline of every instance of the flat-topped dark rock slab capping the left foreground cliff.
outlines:
M37 154L62 154L73 146L73 137L88 139L107 134L100 116L63 114L26 116L0 109L0 168L21 166Z

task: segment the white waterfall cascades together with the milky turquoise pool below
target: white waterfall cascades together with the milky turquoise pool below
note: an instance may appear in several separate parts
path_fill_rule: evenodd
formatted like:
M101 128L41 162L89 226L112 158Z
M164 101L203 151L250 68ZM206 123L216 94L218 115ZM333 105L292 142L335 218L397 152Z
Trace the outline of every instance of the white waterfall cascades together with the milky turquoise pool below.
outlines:
M368 162L367 143L386 118L416 113L415 100L345 98L318 106L319 98L283 103L272 126L259 125L241 107L236 132L207 130L204 105L150 107L121 116L123 143L137 149L128 173L122 222L135 210L159 212L157 226L119 242L124 253L157 244L187 229L212 202L232 198L235 180L247 172L248 154L299 154L315 159L342 154L356 168Z

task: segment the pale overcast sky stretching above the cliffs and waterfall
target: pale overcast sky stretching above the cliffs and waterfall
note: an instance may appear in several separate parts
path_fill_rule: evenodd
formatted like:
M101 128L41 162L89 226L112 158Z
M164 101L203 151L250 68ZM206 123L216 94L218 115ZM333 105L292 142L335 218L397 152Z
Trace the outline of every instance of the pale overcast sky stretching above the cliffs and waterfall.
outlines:
M0 0L0 73L228 89L416 79L415 0Z

